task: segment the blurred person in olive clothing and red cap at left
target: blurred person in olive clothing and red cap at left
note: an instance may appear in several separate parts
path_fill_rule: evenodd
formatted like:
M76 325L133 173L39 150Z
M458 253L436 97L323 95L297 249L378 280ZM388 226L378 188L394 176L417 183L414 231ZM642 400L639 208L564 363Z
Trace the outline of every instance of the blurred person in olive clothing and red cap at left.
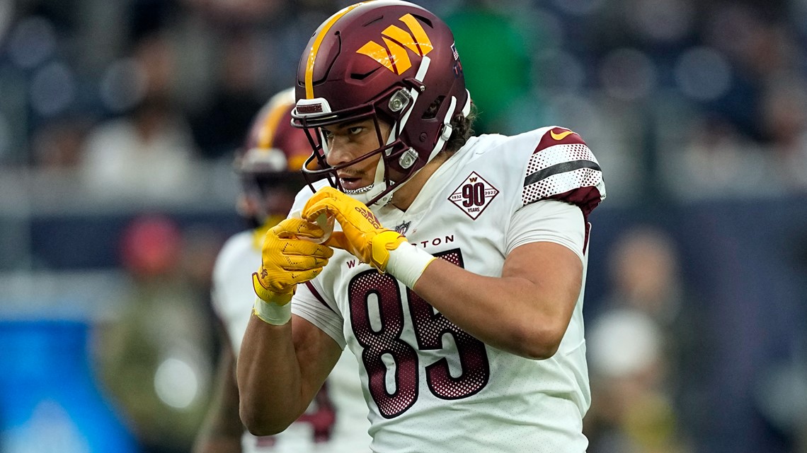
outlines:
M214 359L209 287L186 262L190 235L165 214L142 214L119 238L119 305L94 331L99 384L119 407L140 453L186 453L209 404ZM216 246L218 247L218 246ZM215 256L215 255L214 255ZM6 451L0 446L0 451ZM59 451L71 451L69 448Z

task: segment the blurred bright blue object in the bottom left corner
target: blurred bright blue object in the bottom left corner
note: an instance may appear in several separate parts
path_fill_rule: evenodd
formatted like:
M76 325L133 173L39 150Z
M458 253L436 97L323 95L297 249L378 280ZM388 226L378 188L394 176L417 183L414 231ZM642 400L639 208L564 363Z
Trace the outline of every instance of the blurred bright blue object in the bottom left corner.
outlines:
M0 451L136 451L96 386L86 322L0 320Z

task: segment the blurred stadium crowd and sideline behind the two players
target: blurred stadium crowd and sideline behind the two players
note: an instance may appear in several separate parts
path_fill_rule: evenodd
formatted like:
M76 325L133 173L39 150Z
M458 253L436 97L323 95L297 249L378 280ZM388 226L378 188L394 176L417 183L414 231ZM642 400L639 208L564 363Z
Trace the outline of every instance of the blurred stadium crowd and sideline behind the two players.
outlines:
M0 451L190 451L232 152L347 3L0 0ZM589 451L807 451L807 1L420 4L604 168Z

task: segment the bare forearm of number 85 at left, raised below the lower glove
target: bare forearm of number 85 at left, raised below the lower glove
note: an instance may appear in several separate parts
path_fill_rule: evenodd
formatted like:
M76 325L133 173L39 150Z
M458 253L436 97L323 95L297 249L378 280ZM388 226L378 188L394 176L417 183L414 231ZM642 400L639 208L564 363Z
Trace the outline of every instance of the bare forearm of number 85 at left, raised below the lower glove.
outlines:
M253 315L238 355L240 418L255 435L278 434L306 409L291 322L272 326Z

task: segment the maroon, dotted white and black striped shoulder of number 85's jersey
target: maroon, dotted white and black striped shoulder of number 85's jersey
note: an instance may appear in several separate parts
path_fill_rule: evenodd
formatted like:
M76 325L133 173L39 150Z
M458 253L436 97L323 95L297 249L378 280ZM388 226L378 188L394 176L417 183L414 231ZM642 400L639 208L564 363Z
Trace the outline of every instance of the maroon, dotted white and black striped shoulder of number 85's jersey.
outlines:
M558 200L579 206L587 219L605 199L602 170L583 139L563 127L543 131L529 156L521 191L522 206Z

